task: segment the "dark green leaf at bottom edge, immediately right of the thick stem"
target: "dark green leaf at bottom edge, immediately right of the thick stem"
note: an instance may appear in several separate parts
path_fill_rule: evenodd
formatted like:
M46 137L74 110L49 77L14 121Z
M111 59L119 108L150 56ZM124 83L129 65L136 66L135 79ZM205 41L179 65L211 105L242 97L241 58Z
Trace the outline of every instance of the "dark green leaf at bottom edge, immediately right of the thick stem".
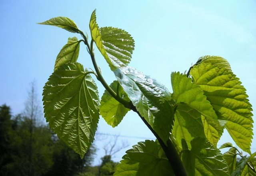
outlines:
M194 138L192 149L182 152L182 162L189 176L229 176L228 166L220 150L205 138Z

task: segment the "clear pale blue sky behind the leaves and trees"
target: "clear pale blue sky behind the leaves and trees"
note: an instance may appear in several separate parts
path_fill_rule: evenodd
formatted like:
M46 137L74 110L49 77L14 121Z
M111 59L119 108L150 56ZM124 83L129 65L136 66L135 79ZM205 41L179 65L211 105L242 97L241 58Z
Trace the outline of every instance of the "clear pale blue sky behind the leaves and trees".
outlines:
M97 9L100 27L112 26L129 32L135 40L130 66L151 75L172 92L170 73L184 72L202 55L220 55L247 89L252 108L256 107L256 1L255 0L8 0L0 1L0 105L6 103L13 115L24 109L29 83L37 80L40 99L44 83L54 69L56 56L68 37L78 34L36 24L57 16L66 16L82 31L89 31L90 15ZM96 50L96 49L95 49ZM96 52L103 76L110 84L115 79L105 59ZM93 68L84 45L80 46L78 62ZM95 78L95 77L94 77ZM100 97L104 88L96 81ZM254 112L253 112L254 113ZM253 117L256 121L255 117ZM254 133L256 133L254 125ZM120 161L124 152L145 139L154 139L140 118L129 112L116 128L100 119L98 132L136 136L119 137L130 146L117 153ZM102 146L97 140L100 163ZM223 134L218 145L234 142ZM252 142L256 152L256 137Z

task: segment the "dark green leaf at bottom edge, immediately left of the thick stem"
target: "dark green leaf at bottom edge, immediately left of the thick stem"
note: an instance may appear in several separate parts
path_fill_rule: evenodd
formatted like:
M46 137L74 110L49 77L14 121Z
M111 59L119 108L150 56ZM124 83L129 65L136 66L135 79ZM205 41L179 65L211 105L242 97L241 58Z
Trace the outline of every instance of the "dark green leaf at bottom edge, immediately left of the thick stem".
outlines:
M146 140L132 147L116 166L114 176L174 176L158 142Z

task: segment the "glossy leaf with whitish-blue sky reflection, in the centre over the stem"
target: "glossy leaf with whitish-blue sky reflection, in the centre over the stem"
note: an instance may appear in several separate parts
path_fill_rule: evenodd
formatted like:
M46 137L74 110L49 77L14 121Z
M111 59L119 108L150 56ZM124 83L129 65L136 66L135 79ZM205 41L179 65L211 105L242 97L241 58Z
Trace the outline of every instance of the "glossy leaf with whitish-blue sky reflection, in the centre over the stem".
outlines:
M168 89L132 67L118 68L114 74L140 115L166 142L174 120Z

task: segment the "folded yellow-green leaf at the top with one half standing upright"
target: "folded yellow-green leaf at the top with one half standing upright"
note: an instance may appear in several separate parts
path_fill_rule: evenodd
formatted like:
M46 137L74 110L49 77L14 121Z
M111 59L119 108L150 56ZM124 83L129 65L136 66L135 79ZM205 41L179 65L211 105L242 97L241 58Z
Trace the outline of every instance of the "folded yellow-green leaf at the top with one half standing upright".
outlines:
M90 19L90 31L92 40L106 59L111 70L126 66L134 50L134 40L124 30L112 27L100 28L96 22L96 10L92 12Z

